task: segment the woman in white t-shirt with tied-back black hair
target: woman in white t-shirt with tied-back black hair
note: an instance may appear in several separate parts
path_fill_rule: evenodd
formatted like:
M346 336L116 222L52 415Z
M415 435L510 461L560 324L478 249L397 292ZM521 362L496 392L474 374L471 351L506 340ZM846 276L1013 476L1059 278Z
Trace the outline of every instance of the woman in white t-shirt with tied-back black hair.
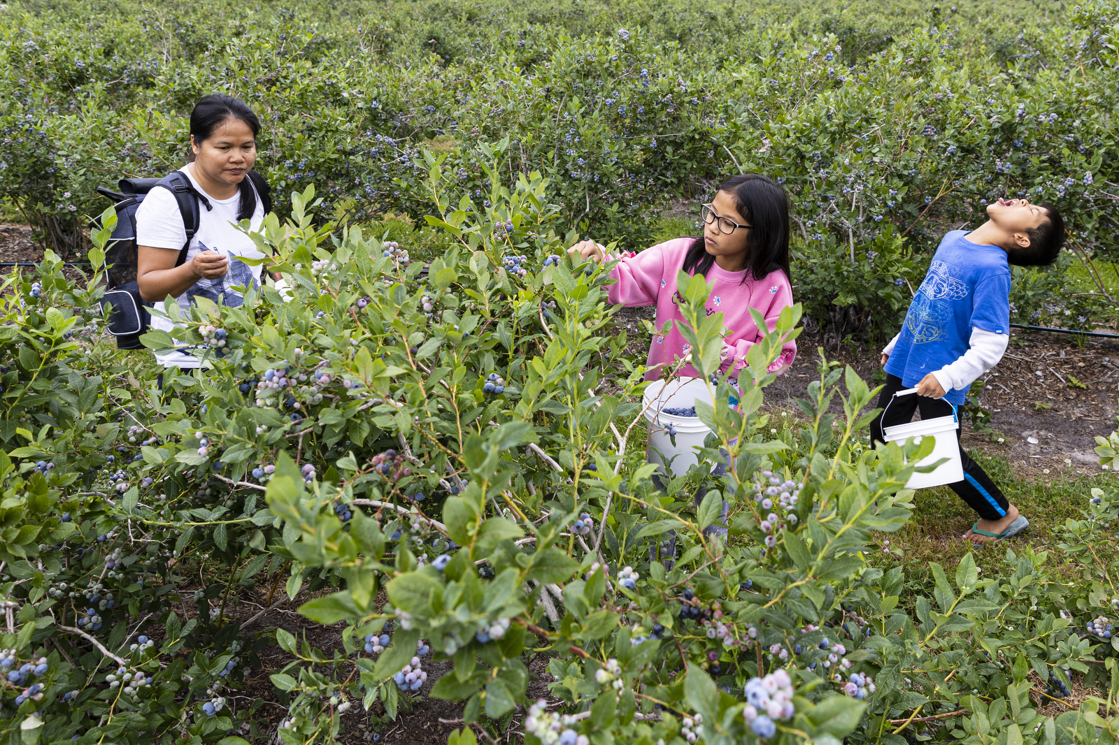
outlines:
M196 296L237 307L244 290L260 287L261 265L241 258L264 254L234 227L247 219L258 230L264 220L267 185L252 172L260 131L256 114L233 96L205 96L190 112L194 157L180 172L199 201L198 232L188 244L178 202L168 189L152 189L137 209L137 284L157 310L163 310L168 295L180 307ZM185 245L186 261L179 264ZM152 314L151 328L171 331L175 324ZM181 350L156 355L156 361L164 368L201 367L200 359Z

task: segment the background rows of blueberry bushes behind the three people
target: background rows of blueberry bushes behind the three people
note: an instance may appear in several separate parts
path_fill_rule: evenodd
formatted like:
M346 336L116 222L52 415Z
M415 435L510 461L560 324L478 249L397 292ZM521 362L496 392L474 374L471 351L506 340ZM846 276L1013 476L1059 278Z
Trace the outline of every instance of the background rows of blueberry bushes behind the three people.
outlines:
M759 170L793 199L807 318L886 336L944 232L1028 196L1063 210L1084 279L1038 299L1068 266L1018 272L1015 320L1112 320L1099 262L1119 258L1113 2L300 4L210 0L158 19L103 0L6 6L7 209L73 252L104 208L95 187L181 164L190 106L223 91L261 114L260 168L280 194L318 185L320 221L422 221L432 153L453 201L485 208L500 149L498 183L552 179L561 233L640 249L669 200Z

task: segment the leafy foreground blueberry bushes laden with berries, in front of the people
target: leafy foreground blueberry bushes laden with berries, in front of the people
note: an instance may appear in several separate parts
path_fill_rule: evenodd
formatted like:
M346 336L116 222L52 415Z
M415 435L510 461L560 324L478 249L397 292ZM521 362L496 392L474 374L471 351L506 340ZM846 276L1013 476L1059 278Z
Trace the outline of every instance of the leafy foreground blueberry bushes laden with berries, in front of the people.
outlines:
M611 332L606 267L565 257L549 180L482 207L455 199L453 164L425 166L442 256L424 268L295 192L251 234L286 287L172 304L207 370L162 392L97 343L100 273L73 283L50 254L10 277L0 736L330 743L361 711L402 716L450 661L431 696L463 702L457 743L518 716L548 744L1115 742L1113 490L1062 528L1060 557L1008 550L980 577L968 555L910 596L867 557L909 522L930 444L866 450L875 390L822 356L801 426L771 426L765 370L800 305L732 389L709 287L681 277L716 404L684 412L711 430L699 464L658 474L646 370ZM235 617L257 583L276 603L310 590L300 614L341 648ZM273 644L279 733L242 691ZM528 695L534 657L551 702ZM1041 715L1073 677L1096 695Z

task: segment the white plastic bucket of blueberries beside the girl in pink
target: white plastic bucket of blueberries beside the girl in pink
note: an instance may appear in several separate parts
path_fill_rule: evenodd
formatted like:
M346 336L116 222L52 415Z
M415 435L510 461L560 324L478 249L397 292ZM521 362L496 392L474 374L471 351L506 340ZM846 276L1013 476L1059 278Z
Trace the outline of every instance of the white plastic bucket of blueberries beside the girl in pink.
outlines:
M683 475L699 462L695 449L703 446L711 430L697 416L677 416L664 412L666 408L688 408L695 406L697 400L714 405L711 390L703 378L675 378L667 383L656 380L645 389L642 404L645 418L649 421L647 459L650 463L668 465L675 475ZM675 445L668 435L669 424L676 426Z

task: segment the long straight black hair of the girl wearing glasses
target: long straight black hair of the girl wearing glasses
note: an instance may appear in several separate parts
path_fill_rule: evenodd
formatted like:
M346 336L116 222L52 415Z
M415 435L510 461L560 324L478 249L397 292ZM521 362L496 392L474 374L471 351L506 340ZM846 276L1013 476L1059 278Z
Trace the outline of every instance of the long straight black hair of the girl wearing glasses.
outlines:
M750 225L746 235L747 279L761 280L767 274L781 270L789 272L789 196L779 183L761 173L732 176L718 185L734 198L734 206ZM742 228L739 228L742 229ZM688 274L706 274L715 263L707 253L703 236L696 238L684 258L684 271Z

